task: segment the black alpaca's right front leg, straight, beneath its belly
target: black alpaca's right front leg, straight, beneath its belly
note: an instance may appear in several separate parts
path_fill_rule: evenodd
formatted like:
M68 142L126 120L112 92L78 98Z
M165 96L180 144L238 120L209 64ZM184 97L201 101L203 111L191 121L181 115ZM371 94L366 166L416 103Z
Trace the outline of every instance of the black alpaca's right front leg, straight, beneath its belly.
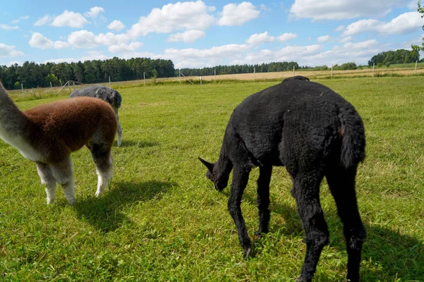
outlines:
M257 204L259 211L259 230L255 235L268 233L269 224L269 182L271 181L272 166L259 167L257 188Z

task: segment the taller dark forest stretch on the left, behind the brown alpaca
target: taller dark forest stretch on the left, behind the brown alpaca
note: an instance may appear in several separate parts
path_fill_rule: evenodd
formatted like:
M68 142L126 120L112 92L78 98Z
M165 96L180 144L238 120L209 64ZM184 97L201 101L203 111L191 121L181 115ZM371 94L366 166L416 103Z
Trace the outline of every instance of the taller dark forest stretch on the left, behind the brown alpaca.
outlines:
M68 80L80 83L95 83L137 80L146 78L168 78L175 75L171 60L132 58L78 61L76 63L35 63L25 61L22 66L0 66L0 80L6 89L23 87L61 86Z

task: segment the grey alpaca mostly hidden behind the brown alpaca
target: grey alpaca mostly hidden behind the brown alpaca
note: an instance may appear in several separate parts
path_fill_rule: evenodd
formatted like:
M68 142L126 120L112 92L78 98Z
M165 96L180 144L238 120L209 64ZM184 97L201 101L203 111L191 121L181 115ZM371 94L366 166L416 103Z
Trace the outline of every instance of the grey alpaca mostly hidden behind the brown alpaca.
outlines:
M119 116L118 116L118 109L122 103L121 94L119 94L117 90L114 90L112 88L109 88L103 85L92 85L92 86L73 90L71 94L69 95L69 98L81 97L81 96L99 98L99 99L105 100L107 103L110 104L110 106L112 106L112 109L114 110L115 115L117 116L117 121L118 121L118 147L119 147L122 142L122 128L121 128L121 123L119 123Z

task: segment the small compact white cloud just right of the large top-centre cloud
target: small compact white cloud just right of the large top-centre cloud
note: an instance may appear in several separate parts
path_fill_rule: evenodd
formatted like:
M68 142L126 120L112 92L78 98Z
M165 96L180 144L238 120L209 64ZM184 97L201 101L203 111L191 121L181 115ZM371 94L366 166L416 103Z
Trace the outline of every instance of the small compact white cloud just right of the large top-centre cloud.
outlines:
M259 17L261 11L250 2L242 2L241 4L227 4L224 6L221 13L221 18L218 20L218 25L242 25L249 20L254 20Z

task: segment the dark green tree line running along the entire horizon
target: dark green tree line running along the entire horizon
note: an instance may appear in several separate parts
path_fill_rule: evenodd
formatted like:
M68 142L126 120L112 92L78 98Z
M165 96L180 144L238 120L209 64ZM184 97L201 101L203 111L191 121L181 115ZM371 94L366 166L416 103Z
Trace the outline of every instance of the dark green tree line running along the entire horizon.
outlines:
M394 63L415 63L420 59L416 49L408 51L384 51L372 56L368 65L389 66ZM421 60L423 61L423 60ZM132 58L119 59L114 57L107 60L78 61L76 63L35 63L25 61L22 66L17 63L11 66L0 66L0 80L8 90L20 87L49 87L61 86L68 80L80 83L98 83L122 80L141 80L143 78L170 78L178 77L179 72L185 76L225 75L237 73L270 73L279 71L293 71L295 69L311 69L326 71L328 66L299 66L295 61L260 63L255 65L215 66L208 68L175 69L171 60ZM334 65L334 70L355 70L356 63L349 62Z

